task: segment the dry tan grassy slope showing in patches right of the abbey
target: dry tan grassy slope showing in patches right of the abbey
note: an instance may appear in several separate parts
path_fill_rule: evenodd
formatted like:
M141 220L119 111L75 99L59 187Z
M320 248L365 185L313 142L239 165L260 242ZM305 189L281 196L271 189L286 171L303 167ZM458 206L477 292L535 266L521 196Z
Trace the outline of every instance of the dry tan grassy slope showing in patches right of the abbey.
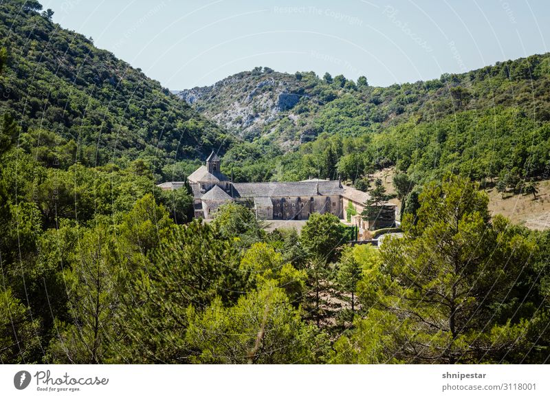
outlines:
M393 188L394 168L384 168L372 177L384 182L386 192L395 193ZM535 199L533 195L505 195L504 199L496 188L485 190L489 195L489 211L492 214L503 214L513 223L524 225L531 230L546 230L550 228L550 180L540 181L539 192ZM399 203L392 199L393 203Z

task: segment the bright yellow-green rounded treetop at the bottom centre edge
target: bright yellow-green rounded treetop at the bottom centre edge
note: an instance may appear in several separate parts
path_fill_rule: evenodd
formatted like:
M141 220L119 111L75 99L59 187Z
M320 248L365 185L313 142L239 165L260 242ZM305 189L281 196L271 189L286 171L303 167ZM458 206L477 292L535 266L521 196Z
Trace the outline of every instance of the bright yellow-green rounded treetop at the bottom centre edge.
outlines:
M301 320L284 291L270 283L234 307L214 300L202 313L191 308L188 318L193 363L311 364L327 352L327 337Z

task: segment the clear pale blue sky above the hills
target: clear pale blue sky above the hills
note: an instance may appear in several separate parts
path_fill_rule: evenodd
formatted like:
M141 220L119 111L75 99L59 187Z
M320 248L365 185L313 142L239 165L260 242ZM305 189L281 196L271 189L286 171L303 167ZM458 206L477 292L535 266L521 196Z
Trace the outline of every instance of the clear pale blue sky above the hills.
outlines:
M41 3L55 22L173 90L254 66L365 75L387 86L541 54L550 45L548 0Z

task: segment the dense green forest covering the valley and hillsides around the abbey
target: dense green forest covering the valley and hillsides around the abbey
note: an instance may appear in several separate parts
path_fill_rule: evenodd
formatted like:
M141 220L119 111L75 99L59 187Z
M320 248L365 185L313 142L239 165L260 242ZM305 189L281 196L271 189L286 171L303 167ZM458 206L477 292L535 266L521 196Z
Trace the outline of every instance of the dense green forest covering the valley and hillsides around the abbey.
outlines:
M299 74L326 104L298 102L318 131L284 151L227 133L36 1L0 18L0 363L549 361L550 232L490 217L472 181L547 173L543 56L386 89ZM364 113L403 89L417 97L395 125ZM404 236L351 246L331 214L267 233L237 204L191 220L188 191L155 184L212 148L241 179L359 186L395 164Z

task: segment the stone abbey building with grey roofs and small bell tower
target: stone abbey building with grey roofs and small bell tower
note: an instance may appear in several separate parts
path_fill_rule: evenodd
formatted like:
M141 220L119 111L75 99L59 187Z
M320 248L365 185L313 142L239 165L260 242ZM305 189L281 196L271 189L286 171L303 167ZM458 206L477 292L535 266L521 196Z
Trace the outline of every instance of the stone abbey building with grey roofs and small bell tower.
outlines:
M195 217L212 219L223 203L236 201L252 208L256 217L265 220L307 220L311 213L332 213L346 219L347 208L353 206L357 214L369 194L340 180L307 179L296 182L232 182L220 172L220 159L212 152L206 164L188 177L195 198ZM162 189L178 189L185 181L168 181L159 184ZM385 203L393 217L373 222L363 221L358 215L352 222L363 229L384 228L395 223L395 205ZM371 224L371 225L369 225Z

